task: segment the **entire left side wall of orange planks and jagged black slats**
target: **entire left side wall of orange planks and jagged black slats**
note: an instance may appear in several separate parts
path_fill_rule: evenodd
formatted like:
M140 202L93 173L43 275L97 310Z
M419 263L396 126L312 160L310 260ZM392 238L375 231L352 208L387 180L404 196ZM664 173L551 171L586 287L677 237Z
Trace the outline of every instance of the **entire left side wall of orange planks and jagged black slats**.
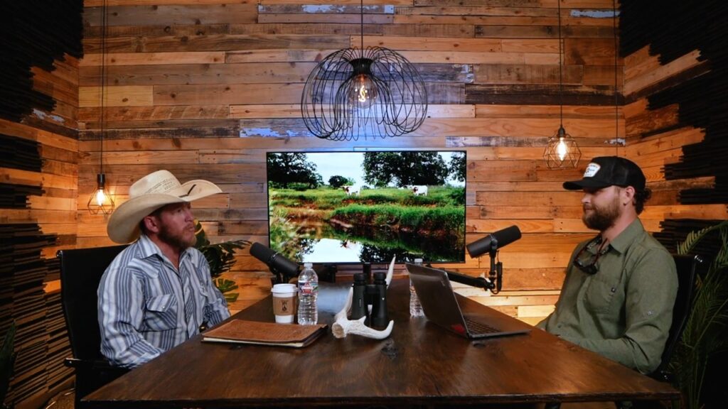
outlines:
M5 403L30 409L72 381L55 250L76 244L83 3L0 9L12 16L0 28L0 336L17 325Z

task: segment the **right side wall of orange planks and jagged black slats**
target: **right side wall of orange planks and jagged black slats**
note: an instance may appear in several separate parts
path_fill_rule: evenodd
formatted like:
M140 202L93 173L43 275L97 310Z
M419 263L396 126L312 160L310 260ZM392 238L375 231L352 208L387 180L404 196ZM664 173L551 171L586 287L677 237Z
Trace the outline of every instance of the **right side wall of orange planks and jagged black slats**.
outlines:
M656 6L658 6L656 8ZM675 250L687 233L727 218L722 163L728 139L724 127L728 7L708 0L685 8L681 1L625 4L627 156L658 175L654 189L666 222L656 237ZM646 19L646 15L657 15ZM715 20L696 28L688 21L710 13ZM670 30L665 28L670 27Z

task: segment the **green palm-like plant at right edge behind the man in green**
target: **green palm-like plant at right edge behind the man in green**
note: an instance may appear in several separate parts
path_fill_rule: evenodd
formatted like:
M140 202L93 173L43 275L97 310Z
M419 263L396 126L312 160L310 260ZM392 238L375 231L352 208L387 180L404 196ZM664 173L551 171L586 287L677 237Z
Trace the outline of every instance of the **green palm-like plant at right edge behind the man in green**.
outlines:
M692 311L670 361L676 386L688 409L703 408L705 402L701 397L708 362L728 350L728 221L691 231L678 245L678 253L694 253L698 243L706 238L717 239L718 252L708 270L698 274Z

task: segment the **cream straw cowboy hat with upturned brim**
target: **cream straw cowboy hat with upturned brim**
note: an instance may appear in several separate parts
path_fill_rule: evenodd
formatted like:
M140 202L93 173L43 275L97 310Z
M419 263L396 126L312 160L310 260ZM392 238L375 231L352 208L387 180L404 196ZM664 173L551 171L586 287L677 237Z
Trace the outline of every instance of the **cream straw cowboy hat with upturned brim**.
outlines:
M165 204L192 202L222 191L207 180L180 183L167 170L157 170L134 182L129 200L116 208L108 219L106 232L116 243L130 243L139 237L139 222Z

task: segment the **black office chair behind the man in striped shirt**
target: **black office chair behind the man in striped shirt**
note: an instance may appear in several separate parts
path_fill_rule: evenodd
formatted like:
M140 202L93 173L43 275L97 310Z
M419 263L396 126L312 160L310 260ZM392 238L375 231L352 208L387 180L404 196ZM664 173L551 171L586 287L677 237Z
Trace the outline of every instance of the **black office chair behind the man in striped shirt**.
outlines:
M63 363L76 372L76 409L83 408L82 397L127 372L109 365L101 354L96 296L103 271L124 247L60 250L56 254L60 260L61 305L73 354Z

